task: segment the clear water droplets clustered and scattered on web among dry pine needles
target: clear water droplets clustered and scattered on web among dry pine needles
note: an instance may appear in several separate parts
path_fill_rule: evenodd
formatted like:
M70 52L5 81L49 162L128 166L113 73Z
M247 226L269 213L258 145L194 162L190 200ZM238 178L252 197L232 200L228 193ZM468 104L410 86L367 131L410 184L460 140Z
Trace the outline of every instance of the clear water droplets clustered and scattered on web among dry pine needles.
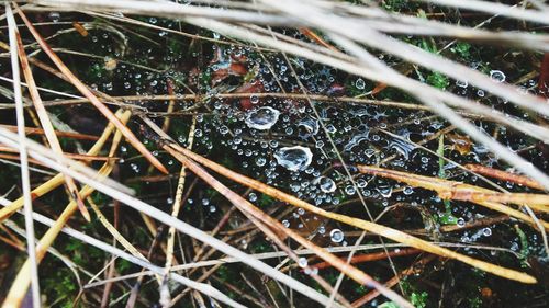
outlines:
M293 58L288 64L282 57L251 57L249 48L235 46L223 47L221 53L225 59L244 55L247 67L257 72L255 80L261 84L260 92L302 92L294 80L294 71L309 93L328 95L330 87L336 82L335 69L301 58ZM170 54L167 57L171 61L178 59L178 55ZM123 65L119 67L124 68ZM168 73L173 78L181 77L177 76L176 70L169 70ZM489 76L494 82L506 80L505 73L497 69L491 70ZM158 85L157 80L160 78L165 76L146 73L144 77L141 72L128 70L124 88L146 91ZM109 87L110 84L103 84L100 88L109 90ZM366 93L371 90L372 83L356 78L346 87ZM452 91L468 98L481 99L486 95L482 89L471 87L467 80L457 80ZM412 141L433 136L447 127L448 123L429 117L428 113L421 111L411 113L395 107L352 103L345 103L343 107L335 102L337 99L328 102L313 101L314 109L306 100L290 98L250 95L245 100L249 102L248 105L244 105L239 99L213 95L208 102L210 112L195 116L195 144L206 150L232 151L239 157L240 167L247 174L269 185L284 189L316 206L338 205L343 199L358 194L379 199L382 206L390 205L391 198L407 201L412 205L425 204L425 199L414 197L415 191L411 186L384 179L372 180L369 175L358 175L351 182L343 170L329 166L338 162L339 156L350 164L376 164L390 159L384 163L388 168L437 175L438 159L418 150ZM484 129L482 123L478 125ZM383 130L396 136L384 134ZM187 144L187 134L176 136L182 145ZM496 161L486 148L479 145L473 145L468 159L472 162L488 161L489 164ZM130 166L135 173L143 172L139 164L132 162ZM445 162L442 167L449 175L457 171L457 166L451 162ZM250 201L256 199L257 195L250 194ZM214 205L204 206L211 213L215 212ZM468 212L461 213L457 217L457 225L464 226L467 220L472 219L470 216ZM289 226L287 220L282 223ZM334 243L345 242L343 231L333 231L335 232L329 236ZM320 227L317 232L325 235L324 227ZM482 235L486 236L486 232ZM463 241L478 238L467 236Z

